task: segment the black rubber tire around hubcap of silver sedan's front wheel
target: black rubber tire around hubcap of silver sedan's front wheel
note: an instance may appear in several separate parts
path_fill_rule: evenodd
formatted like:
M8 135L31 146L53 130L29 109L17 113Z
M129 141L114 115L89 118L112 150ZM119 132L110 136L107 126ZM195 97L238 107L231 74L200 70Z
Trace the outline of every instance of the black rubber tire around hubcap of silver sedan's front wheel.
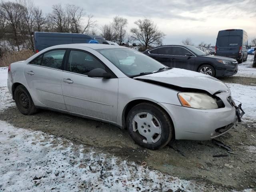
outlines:
M144 142L142 142L142 136L138 133L138 131L134 132L133 128L132 128L132 119L134 118L134 116L140 112L148 112L152 115L154 115L158 121L160 122L160 125L162 127L162 134L160 139L154 143L154 144L146 144ZM158 149L161 148L163 146L165 146L166 144L168 144L168 142L170 142L170 140L173 137L173 126L172 124L170 124L170 119L166 119L164 117L164 113L159 110L157 107L154 107L154 105L148 105L148 104L140 104L140 105L136 105L134 106L130 112L128 113L127 116L127 128L128 128L128 132L130 134L130 136L132 137L132 139L139 144L140 146L143 146L145 148L149 148L149 149Z

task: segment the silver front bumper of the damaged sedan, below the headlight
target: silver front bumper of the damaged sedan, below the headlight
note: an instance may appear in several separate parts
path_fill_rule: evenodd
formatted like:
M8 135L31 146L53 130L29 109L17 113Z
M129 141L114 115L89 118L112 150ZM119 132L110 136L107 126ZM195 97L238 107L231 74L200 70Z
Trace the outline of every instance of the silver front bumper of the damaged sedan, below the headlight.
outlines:
M236 107L228 101L230 92L216 94L222 99L225 107L210 110L201 110L160 103L170 114L177 140L210 140L228 130L238 121Z

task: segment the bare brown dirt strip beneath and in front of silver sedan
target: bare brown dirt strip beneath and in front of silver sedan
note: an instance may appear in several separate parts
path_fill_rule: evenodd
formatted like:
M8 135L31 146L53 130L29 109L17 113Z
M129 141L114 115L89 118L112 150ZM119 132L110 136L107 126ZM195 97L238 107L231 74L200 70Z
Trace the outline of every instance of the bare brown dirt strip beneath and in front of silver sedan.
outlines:
M24 116L13 106L0 112L0 120L93 146L138 164L145 161L153 169L186 180L204 181L224 191L256 186L256 121L239 123L217 138L230 146L233 154L212 141L176 140L160 150L148 150L136 145L127 130L47 110ZM228 156L213 157L219 154Z

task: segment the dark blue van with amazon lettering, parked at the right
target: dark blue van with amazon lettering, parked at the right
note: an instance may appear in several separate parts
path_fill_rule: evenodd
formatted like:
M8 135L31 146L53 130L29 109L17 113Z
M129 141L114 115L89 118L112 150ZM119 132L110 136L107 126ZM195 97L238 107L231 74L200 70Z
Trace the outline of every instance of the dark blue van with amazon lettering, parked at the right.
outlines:
M238 63L247 60L248 36L242 29L227 29L218 32L216 55L234 58Z

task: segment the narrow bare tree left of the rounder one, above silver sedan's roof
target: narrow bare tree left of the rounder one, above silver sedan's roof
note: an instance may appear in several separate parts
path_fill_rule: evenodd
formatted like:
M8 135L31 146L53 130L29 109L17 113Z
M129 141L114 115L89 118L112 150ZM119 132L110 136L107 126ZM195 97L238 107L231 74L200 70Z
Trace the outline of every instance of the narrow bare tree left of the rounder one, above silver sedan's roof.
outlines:
M126 26L128 24L128 20L126 18L122 18L120 16L115 16L113 18L112 26L116 32L116 35L118 36L118 39L120 40L120 44L122 44L122 41L124 40L125 34L126 34Z

